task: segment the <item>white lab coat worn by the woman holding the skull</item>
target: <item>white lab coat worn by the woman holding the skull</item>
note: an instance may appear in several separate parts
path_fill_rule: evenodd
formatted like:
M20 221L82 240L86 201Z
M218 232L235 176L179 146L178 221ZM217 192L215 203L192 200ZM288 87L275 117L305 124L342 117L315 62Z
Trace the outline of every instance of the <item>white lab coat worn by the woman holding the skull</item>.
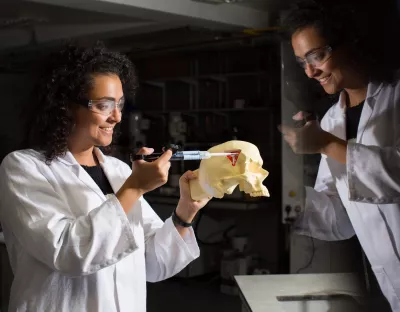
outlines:
M117 192L131 173L96 149ZM140 198L128 215L71 153L46 165L23 150L0 168L0 217L15 274L9 311L144 312L146 280L173 276L199 256Z

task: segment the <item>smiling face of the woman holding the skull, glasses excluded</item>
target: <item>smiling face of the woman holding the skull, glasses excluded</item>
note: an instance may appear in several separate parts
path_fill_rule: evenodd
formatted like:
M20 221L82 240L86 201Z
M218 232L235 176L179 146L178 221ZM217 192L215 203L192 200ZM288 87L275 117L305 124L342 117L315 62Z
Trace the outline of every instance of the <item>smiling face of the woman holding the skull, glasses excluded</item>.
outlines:
M121 80L113 74L94 75L91 88L87 92L89 100L112 99L118 102L123 96ZM88 149L111 144L113 129L121 121L121 112L114 109L109 116L106 116L87 107L76 106L73 118L75 127L70 137L70 144L75 146L79 144L79 149Z

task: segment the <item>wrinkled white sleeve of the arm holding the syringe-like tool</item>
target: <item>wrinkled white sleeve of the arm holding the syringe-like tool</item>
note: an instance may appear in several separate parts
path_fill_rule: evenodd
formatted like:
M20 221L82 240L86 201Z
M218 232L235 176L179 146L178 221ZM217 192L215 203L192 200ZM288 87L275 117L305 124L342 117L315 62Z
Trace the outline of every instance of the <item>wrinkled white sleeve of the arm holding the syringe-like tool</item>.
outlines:
M46 168L16 153L0 168L1 222L29 254L55 271L81 276L115 264L137 248L115 196L74 217L41 170Z

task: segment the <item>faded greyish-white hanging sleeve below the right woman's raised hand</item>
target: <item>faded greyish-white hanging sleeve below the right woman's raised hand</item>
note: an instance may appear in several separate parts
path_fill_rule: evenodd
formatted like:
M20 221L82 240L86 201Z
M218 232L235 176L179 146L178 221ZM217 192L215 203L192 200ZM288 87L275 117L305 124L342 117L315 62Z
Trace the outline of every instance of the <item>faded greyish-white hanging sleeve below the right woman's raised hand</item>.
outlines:
M314 188L305 188L304 212L293 226L295 234L335 241L352 237L353 226L337 192L325 156L321 157Z

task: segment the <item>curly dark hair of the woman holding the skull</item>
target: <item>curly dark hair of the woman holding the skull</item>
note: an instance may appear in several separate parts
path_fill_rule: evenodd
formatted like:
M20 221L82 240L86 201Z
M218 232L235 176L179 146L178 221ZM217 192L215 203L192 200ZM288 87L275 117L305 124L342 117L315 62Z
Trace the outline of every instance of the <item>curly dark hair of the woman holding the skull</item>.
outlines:
M46 163L63 156L74 121L72 103L84 99L94 74L116 74L124 96L133 101L138 88L136 70L124 55L109 51L101 42L92 47L67 44L46 59L34 90L29 146L43 153Z

